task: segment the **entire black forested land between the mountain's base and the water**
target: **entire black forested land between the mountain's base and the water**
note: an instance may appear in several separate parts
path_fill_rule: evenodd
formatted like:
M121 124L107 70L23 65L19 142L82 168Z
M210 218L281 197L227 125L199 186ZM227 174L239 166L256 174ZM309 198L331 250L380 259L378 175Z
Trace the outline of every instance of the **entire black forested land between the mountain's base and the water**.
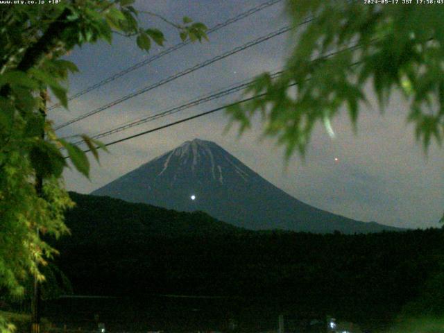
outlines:
M432 297L415 311L444 309L444 297L434 297L444 283L441 229L257 232L200 212L70 195L77 203L66 216L71 236L55 245L77 294L261 297L388 321L425 291Z

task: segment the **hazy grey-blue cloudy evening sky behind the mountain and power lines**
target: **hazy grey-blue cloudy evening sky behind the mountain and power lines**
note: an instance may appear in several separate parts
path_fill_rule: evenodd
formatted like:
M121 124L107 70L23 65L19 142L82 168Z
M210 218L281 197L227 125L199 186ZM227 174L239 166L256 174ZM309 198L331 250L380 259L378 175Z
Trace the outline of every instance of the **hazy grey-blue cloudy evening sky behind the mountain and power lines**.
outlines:
M187 15L207 26L214 26L262 2L264 0L139 0L136 7L157 12L176 22ZM69 112L52 110L49 117L58 125L277 30L287 23L282 2L213 33L210 42L185 46L71 101ZM180 42L177 31L171 26L148 15L141 15L140 21L146 27L161 28L167 36L167 47ZM275 37L78 121L59 133L62 136L78 133L94 135L253 78L263 71L276 71L284 64L290 46L289 35ZM80 73L70 78L70 91L78 92L160 50L154 47L146 55L137 49L135 40L119 36L115 36L112 46L99 43L76 49L69 58L78 65ZM252 130L240 138L236 128L224 133L228 118L223 112L218 112L111 146L110 154L101 154L100 166L92 163L90 181L76 172L67 171L67 188L89 193L182 142L199 137L221 145L274 185L315 207L361 221L406 228L437 227L444 210L443 149L432 144L425 155L415 141L413 127L406 122L408 105L398 94L393 96L384 115L381 115L370 85L367 91L372 106L362 105L357 135L352 132L350 121L342 112L341 117L332 122L336 134L333 139L323 126L316 128L305 161L295 155L286 165L283 149L276 146L273 139L261 139L259 121L255 121ZM105 137L102 141L110 142L189 117L230 103L239 96L235 94L205 103ZM335 158L338 160L335 161Z

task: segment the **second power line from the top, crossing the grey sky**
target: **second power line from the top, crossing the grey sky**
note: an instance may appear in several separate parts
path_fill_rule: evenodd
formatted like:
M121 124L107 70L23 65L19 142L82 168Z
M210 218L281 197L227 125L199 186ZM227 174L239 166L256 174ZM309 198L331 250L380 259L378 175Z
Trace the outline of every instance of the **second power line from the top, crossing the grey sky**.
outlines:
M302 24L307 24L311 21L313 21L314 18L311 17L309 19L306 19L304 22L301 22L300 24L298 24L298 26L301 26ZM62 123L61 125L57 126L55 128L55 130L60 130L60 128L64 128L65 126L70 125L71 123L75 123L77 121L83 120L87 117L92 116L93 114L96 114L98 112L102 112L103 110L107 110L109 108L111 108L114 105L117 105L119 103L122 103L124 101L127 101L128 99L132 99L135 96L139 96L140 94L143 94L144 92L148 92L152 89L155 89L157 87L160 87L161 85L164 85L166 83L171 82L172 80L176 80L177 78L180 78L182 76L185 76L193 71L196 71L198 69L201 69L203 67L206 67L208 65L211 65L213 62L222 60L224 58L227 58L229 56L232 56L235 53L239 53L240 51L244 51L245 49L248 49L252 46L255 46L257 44L260 44L262 42L265 42L266 40L270 40L273 37L282 35L283 33L287 33L288 31L290 31L291 29L295 28L294 26L284 26L280 29L278 29L277 31L273 31L272 33L268 33L268 35L264 35L262 37L257 38L256 40L250 41L242 46L237 46L236 48L232 49L231 51L225 52L219 56L216 56L214 58L211 58L209 60L205 60L205 62L201 62L198 65L194 65L193 67L189 67L188 69L185 69L184 71L180 71L177 74L174 74L173 76L169 76L168 78L164 78L163 80L158 81L157 83L154 83L153 85L148 85L147 87L144 87L142 89L137 90L137 92L133 92L131 94L128 94L126 96L121 97L120 99L117 99L116 101L113 101L111 103L108 103L106 105L101 106L100 108L96 108L95 110L92 110L90 112L87 112L79 117L76 117L74 119L71 119L70 121L67 121L65 123Z

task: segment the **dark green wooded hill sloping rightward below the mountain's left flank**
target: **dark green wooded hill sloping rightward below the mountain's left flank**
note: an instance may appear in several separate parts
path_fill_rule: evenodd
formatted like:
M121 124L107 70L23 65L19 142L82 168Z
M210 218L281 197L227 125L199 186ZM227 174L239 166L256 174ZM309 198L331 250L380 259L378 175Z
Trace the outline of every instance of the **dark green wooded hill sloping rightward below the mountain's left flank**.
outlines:
M244 230L203 212L176 212L144 203L127 203L116 198L75 192L69 192L69 196L76 202L76 207L66 213L71 237L64 241L76 244L221 235Z

